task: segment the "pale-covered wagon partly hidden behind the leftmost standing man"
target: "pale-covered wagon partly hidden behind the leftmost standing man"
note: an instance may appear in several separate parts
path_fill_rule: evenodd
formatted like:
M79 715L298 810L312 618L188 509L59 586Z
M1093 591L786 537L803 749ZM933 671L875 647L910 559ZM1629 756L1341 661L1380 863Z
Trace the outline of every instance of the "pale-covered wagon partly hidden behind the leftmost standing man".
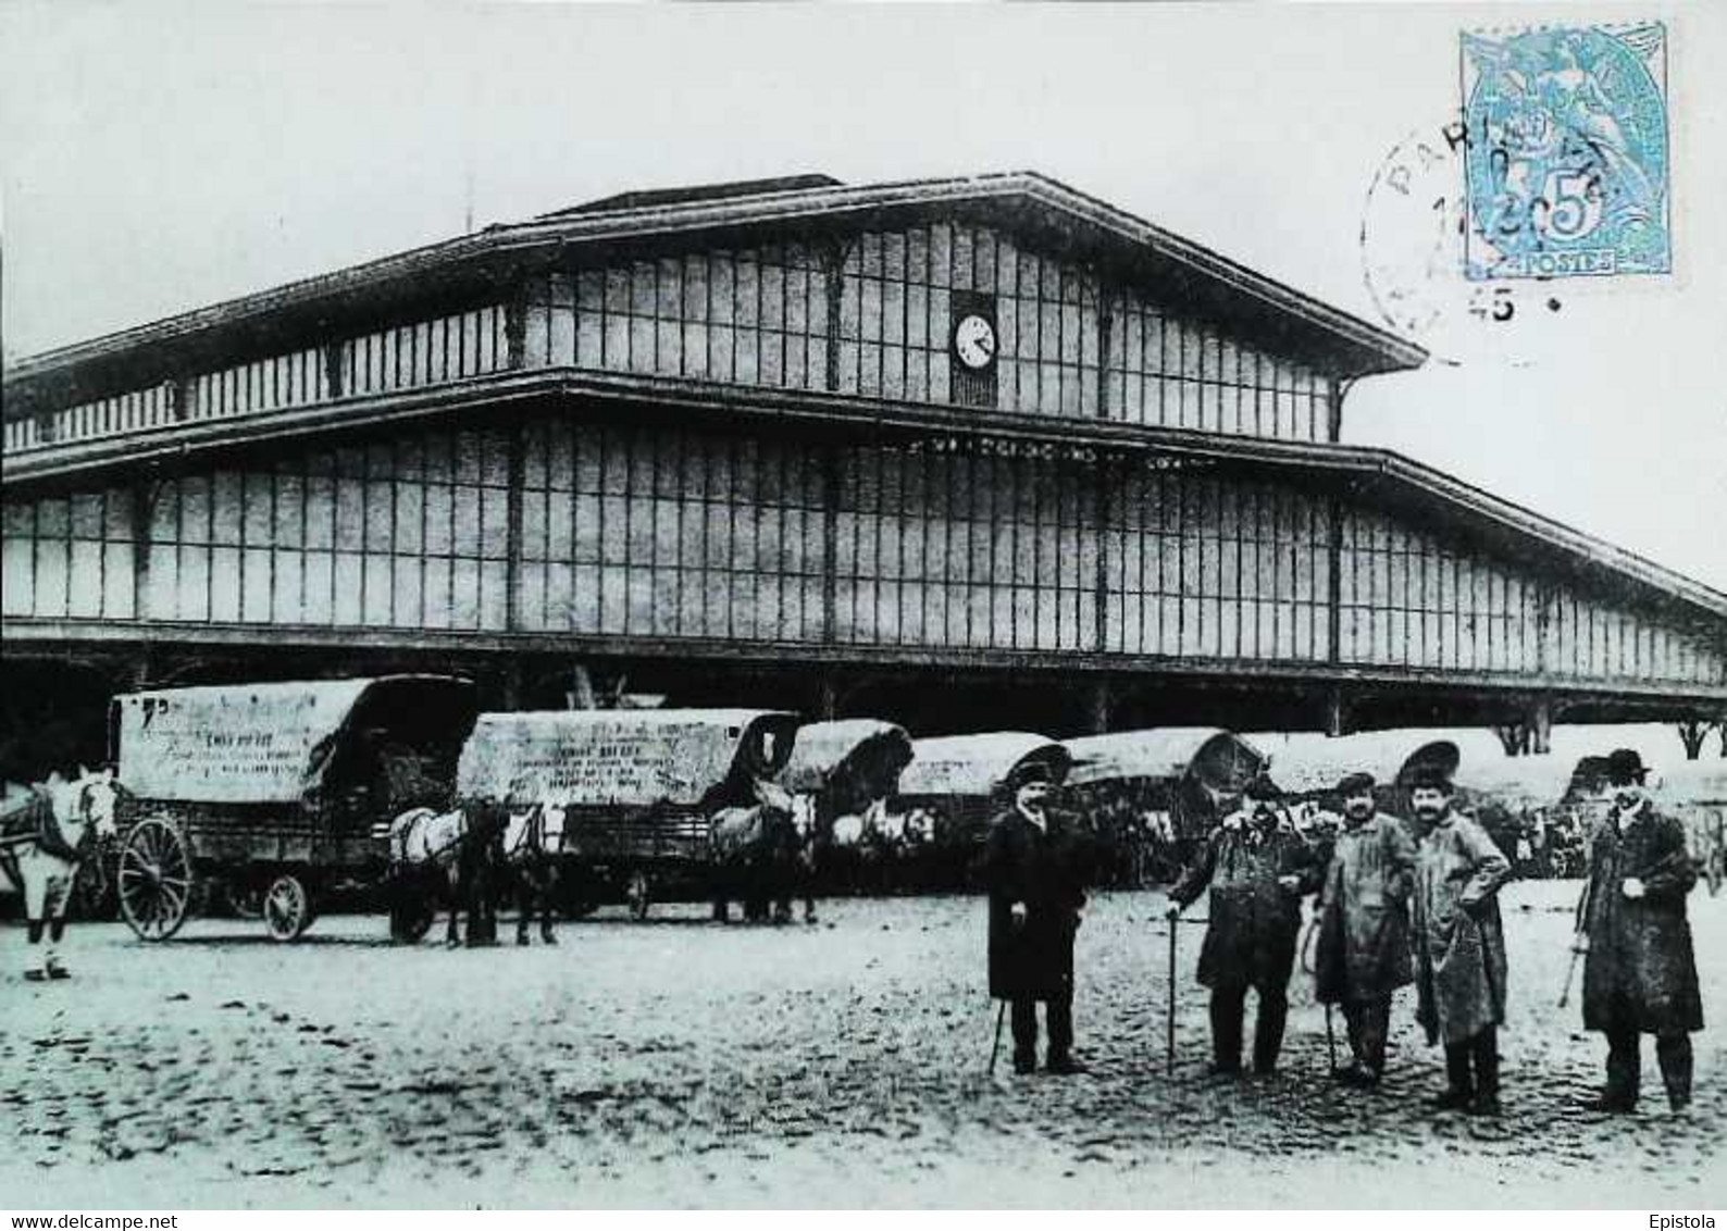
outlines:
M889 808L903 818L919 887L958 889L972 881L990 836L990 818L1012 805L1009 779L1038 763L1060 782L1071 763L1066 748L1024 730L938 735L912 744Z

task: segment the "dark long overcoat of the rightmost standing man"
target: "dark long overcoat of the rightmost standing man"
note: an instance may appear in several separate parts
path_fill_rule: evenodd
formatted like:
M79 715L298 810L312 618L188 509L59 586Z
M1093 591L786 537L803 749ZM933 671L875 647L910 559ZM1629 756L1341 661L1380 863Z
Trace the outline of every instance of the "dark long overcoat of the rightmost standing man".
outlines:
M1589 934L1584 958L1584 1029L1680 1034L1703 1029L1698 963L1686 920L1686 894L1698 870L1686 832L1644 801L1622 829L1610 815L1589 843L1589 887L1578 925ZM1642 881L1642 898L1623 893Z

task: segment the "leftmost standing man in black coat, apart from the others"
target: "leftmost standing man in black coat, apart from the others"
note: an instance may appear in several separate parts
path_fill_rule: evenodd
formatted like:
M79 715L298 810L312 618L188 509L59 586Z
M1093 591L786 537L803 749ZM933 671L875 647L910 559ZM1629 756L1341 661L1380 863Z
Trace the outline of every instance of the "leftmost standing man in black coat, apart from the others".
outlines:
M1072 1055L1074 932L1090 867L1090 843L1045 806L1053 786L1045 765L1024 765L1009 787L1014 806L990 824L990 994L1014 1017L1014 1072L1038 1067L1038 1001L1050 1031L1048 1070L1085 1072Z

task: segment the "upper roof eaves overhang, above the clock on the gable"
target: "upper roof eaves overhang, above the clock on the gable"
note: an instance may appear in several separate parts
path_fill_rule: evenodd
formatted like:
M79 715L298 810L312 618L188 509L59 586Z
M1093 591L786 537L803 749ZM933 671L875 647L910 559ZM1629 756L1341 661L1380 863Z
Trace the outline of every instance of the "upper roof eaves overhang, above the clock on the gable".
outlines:
M38 401L33 397L36 387L76 387L83 369L98 371L145 352L161 352L161 366L180 350L209 350L212 335L268 333L273 323L297 321L300 330L335 330L356 312L385 311L390 302L430 285L452 295L501 287L511 269L573 247L641 243L679 235L743 235L765 228L832 231L855 228L860 219L945 209L1036 216L1078 243L1114 252L1129 268L1138 261L1152 273L1174 273L1183 290L1199 292L1219 312L1233 307L1257 319L1259 328L1281 326L1302 333L1309 345L1332 354L1326 366L1337 375L1397 371L1427 361L1427 350L1413 342L1055 180L1015 171L857 188L798 188L494 224L475 235L28 356L5 373L7 418L14 416L14 407Z

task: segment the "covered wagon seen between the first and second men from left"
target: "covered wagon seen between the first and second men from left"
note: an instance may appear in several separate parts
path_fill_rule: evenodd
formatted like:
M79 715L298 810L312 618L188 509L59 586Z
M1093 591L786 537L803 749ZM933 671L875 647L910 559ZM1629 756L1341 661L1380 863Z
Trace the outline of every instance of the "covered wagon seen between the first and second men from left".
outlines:
M1167 882L1266 765L1254 744L1218 727L1159 727L1062 744L1072 770L1062 805L1086 817L1104 879Z

